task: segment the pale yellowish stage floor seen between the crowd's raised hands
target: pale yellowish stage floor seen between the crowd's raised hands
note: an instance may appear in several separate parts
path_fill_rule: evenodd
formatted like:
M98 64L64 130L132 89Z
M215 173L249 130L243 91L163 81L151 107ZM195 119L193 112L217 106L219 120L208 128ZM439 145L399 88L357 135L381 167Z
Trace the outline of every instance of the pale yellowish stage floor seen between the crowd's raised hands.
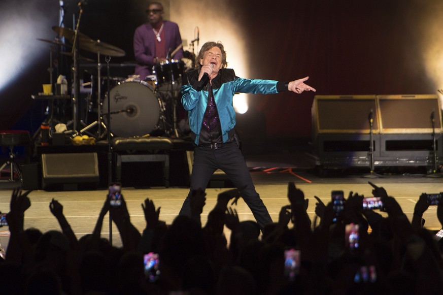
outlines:
M287 184L292 181L309 199L308 214L313 219L318 196L324 203L329 202L331 190L343 190L345 196L349 191L358 192L365 196L371 195L372 187L368 180L383 186L389 195L395 197L408 218L412 218L414 206L422 192L438 193L443 191L443 178L426 177L420 173L399 173L384 175L383 178L364 178L364 171L349 171L334 173L334 175L319 176L313 173L309 155L304 152L268 155L246 156L251 175L264 204L272 219L278 220L280 208L288 205ZM9 211L9 202L13 183L0 183L0 211ZM217 194L229 188L208 188L206 206L201 215L202 224L206 223L208 213L215 205ZM160 219L170 224L177 216L185 196L187 187L124 187L122 192L131 216L131 222L143 231L146 223L141 204L146 198L153 200L156 207L161 207ZM63 213L70 222L74 233L81 237L93 231L98 213L105 201L106 189L91 191L45 191L30 192L31 207L25 213L25 228L36 227L42 232L59 230L56 219L49 210L49 203L54 198L63 205ZM246 204L239 200L235 206L240 220L253 220L253 216ZM384 214L384 213L383 213ZM430 230L439 230L441 225L436 216L436 206L430 206L424 213L425 227ZM109 217L105 218L102 235L109 238ZM229 230L225 228L229 238ZM113 244L121 245L117 228L112 228ZM4 247L9 241L8 227L0 228L0 242Z

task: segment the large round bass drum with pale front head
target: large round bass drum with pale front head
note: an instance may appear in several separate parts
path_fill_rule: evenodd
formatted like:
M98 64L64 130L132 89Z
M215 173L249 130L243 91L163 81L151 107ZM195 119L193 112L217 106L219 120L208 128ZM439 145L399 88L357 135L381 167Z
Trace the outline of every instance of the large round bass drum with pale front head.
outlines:
M110 91L111 133L118 137L150 134L160 118L161 100L145 81L122 82ZM108 97L103 102L103 121L108 124Z

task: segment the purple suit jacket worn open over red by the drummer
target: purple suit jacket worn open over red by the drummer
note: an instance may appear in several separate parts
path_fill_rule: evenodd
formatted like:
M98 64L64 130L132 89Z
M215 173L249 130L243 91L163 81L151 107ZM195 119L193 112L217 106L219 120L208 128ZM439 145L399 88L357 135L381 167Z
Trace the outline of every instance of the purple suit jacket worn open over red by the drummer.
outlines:
M174 51L182 44L179 26L172 21L163 20L163 31L165 36L165 48L171 48ZM155 34L150 23L145 23L135 29L134 32L134 56L135 74L140 75L140 79L145 80L146 76L152 75L152 66L155 58ZM166 56L167 52L165 52ZM183 57L183 48L172 56L173 59L181 59Z

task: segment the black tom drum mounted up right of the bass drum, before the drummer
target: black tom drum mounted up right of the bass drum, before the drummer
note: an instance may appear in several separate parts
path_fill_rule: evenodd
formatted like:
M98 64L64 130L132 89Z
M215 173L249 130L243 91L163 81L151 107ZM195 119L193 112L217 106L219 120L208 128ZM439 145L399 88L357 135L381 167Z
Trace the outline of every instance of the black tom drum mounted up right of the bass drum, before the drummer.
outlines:
M156 78L157 89L159 91L180 90L184 68L184 62L178 59L154 65L152 73Z

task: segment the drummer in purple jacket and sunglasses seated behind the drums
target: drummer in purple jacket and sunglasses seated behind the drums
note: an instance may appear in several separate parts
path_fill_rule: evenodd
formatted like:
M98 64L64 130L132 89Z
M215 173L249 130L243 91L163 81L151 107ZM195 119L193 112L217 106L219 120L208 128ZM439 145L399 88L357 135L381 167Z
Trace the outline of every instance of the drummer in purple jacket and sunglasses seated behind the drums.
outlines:
M163 20L163 5L151 2L146 13L148 22L134 32L134 56L137 63L135 75L140 75L142 80L152 75L154 64L183 57L179 26L175 22Z

